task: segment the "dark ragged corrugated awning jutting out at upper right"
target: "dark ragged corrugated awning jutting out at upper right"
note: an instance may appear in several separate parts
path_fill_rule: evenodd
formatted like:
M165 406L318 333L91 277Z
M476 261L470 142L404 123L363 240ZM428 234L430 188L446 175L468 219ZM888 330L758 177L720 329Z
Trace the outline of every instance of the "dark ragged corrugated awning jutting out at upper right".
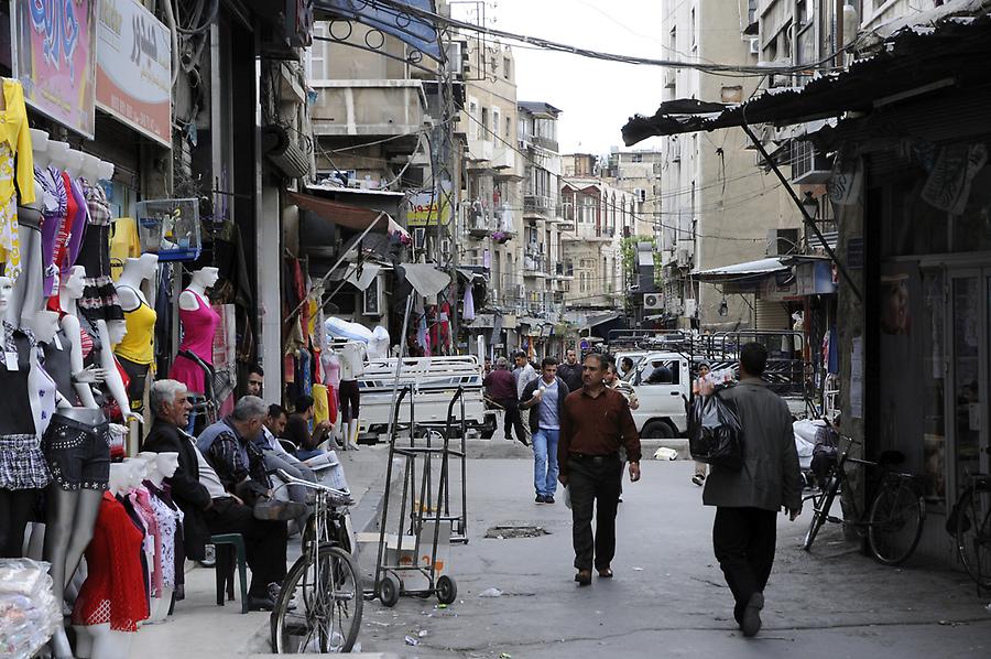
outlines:
M711 131L744 123L785 126L846 112L870 112L890 102L966 84L991 82L991 17L948 18L935 25L904 28L880 52L799 88L772 88L737 105L678 99L653 117L635 116L623 127L628 147L655 136Z

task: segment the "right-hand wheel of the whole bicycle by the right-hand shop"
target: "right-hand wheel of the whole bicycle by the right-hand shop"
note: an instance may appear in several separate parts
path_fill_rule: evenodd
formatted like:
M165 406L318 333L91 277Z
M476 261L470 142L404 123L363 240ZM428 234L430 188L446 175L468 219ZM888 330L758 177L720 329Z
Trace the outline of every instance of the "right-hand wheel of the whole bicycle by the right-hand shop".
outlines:
M871 504L868 545L885 565L900 565L922 537L926 503L905 480L886 482Z

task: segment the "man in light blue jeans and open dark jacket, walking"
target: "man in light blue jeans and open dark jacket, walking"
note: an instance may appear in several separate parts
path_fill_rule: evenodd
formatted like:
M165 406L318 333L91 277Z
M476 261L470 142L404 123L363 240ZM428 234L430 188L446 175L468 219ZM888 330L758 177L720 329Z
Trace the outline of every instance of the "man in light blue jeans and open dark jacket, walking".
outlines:
M541 377L523 388L520 407L530 411L533 433L533 487L537 504L553 504L557 491L557 442L568 386L557 377L557 359L544 357Z

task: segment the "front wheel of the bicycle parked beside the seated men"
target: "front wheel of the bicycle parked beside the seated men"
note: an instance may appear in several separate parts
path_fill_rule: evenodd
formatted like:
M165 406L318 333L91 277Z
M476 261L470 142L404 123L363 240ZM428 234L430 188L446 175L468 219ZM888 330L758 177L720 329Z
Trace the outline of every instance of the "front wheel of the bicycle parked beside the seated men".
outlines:
M351 557L320 545L292 566L272 612L279 655L349 652L358 639L364 599Z

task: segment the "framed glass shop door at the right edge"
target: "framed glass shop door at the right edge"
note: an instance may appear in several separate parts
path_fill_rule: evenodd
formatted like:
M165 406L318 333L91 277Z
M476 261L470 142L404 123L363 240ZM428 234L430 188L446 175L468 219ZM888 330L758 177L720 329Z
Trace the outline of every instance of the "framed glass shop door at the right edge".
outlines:
M968 485L968 475L988 473L989 386L991 386L991 268L950 271L949 387L947 410L951 435L954 498Z

